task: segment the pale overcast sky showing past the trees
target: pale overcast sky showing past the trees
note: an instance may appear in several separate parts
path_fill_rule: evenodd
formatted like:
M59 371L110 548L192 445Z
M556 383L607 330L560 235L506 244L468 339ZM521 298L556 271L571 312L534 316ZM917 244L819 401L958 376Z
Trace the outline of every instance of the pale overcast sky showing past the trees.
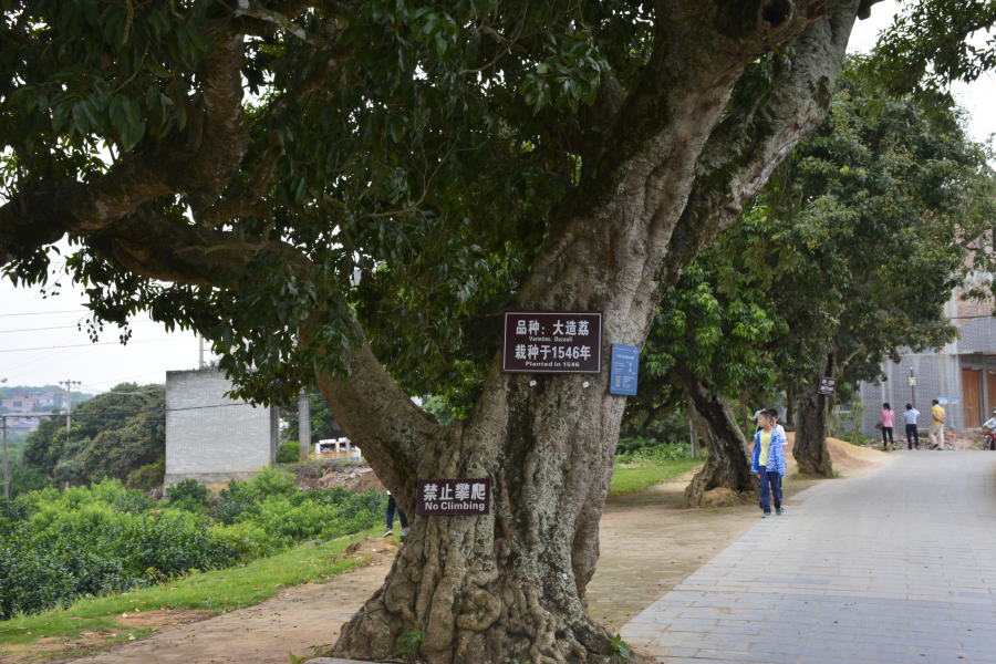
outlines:
M858 22L851 50L870 50L898 8L898 2L875 4L872 17ZM996 133L996 113L992 113L996 83L992 76L958 85L955 93L972 114L969 133L975 141L986 141ZM135 321L127 346L116 343L117 329L113 325L105 329L100 344L91 344L86 334L76 330L86 314L82 301L80 292L70 289L43 298L38 289L15 289L9 281L0 282L0 380L7 378L6 386L73 380L82 383L74 388L102 392L124 381L162 383L167 371L197 366L198 344L193 333L168 334L146 317Z

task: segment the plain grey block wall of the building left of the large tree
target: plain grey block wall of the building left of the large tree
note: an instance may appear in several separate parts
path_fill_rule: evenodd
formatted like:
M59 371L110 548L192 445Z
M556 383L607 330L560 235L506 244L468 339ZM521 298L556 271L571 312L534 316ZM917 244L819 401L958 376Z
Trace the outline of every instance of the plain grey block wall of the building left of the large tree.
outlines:
M166 372L166 486L249 479L276 461L277 408L232 401L229 390L221 372Z

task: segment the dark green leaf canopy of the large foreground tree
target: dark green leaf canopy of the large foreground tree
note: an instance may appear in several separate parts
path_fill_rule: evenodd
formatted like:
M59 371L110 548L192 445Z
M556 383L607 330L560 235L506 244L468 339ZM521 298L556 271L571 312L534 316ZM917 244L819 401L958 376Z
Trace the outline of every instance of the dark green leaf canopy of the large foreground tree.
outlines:
M198 66L219 41L261 23L230 2L14 7L0 42L4 141L18 166L0 185L10 189L95 179L108 169L95 145L111 145L117 166L187 149L203 107ZM624 90L639 80L652 13L616 1L315 6L293 30L243 44L246 104L256 107L221 198L243 196L263 173L268 211L219 227L287 241L313 274L292 276L260 251L232 274L238 288L165 283L125 270L100 238L81 238L66 270L100 321L149 311L207 335L243 396L289 404L312 370L343 375L342 353L357 341L344 320L352 307L412 394L469 400L498 343L494 321L480 317L511 302L552 206L578 181L575 144L605 128L580 117L605 72ZM312 79L319 90L299 94ZM174 219L188 204L177 193L149 203ZM11 276L44 281L44 253L19 257ZM317 305L323 317L311 319ZM301 328L326 352L298 346Z

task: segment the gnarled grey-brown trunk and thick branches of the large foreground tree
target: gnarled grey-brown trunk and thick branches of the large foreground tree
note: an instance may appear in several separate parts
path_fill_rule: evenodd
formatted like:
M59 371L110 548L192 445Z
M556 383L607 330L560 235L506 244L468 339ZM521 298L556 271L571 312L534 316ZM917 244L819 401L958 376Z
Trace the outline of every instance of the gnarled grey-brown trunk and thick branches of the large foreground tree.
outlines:
M653 54L621 103L618 94L600 95L609 100L594 114L609 121L601 144L585 146L593 163L585 158L581 186L551 217L516 308L601 311L603 352L611 342L642 345L662 294L823 120L867 4L657 2ZM217 230L253 203L218 203L247 143L242 37L217 39L198 72L198 141L89 184L29 186L0 208L0 264L72 232L126 269L168 281L224 286L227 270L268 252L313 278L308 257L290 245ZM724 117L744 66L789 42L793 65L777 74L770 102ZM173 193L188 195L198 225L144 205ZM362 338L362 322L354 324ZM612 661L611 635L588 616L585 599L625 404L609 394L608 373L501 374L496 357L469 418L440 426L367 344L349 361L349 382L318 376L319 386L401 507L414 513L417 478L490 477L492 513L415 519L383 588L343 629L335 654L390 656L403 634L424 630L417 654L432 664Z

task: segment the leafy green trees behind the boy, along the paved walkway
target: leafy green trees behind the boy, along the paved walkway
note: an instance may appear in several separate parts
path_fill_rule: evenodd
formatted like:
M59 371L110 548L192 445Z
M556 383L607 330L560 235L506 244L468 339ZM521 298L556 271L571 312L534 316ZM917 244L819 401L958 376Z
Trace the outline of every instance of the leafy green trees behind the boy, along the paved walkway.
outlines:
M987 258L992 153L955 105L889 100L855 64L820 128L657 310L627 418L684 408L696 422L709 459L692 505L755 488L748 402L787 403L800 471L830 476L820 376L878 381L883 359L956 339L943 305L977 267L969 256Z

